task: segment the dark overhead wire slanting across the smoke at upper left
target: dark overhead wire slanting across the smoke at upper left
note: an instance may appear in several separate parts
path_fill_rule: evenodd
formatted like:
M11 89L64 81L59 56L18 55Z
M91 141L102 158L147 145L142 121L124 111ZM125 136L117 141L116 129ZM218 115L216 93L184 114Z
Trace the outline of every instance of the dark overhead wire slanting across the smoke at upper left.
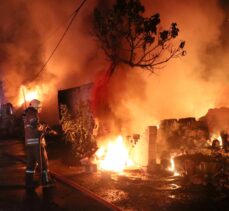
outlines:
M43 66L41 67L40 71L34 76L34 78L31 80L34 81L36 78L38 78L38 76L41 74L41 72L45 69L45 67L47 66L47 64L49 63L49 61L51 60L52 56L54 55L54 53L56 52L57 48L59 47L59 45L61 44L61 42L63 41L65 35L67 34L70 26L72 25L75 17L77 16L77 14L79 13L80 9L83 7L83 5L86 3L87 0L83 0L81 2L81 4L78 6L78 8L73 12L73 15L71 17L71 20L69 21L69 24L67 25L64 33L62 34L62 36L60 37L57 45L55 46L55 48L53 49L53 51L51 52L50 56L47 58L47 60L45 61L45 63L43 64Z

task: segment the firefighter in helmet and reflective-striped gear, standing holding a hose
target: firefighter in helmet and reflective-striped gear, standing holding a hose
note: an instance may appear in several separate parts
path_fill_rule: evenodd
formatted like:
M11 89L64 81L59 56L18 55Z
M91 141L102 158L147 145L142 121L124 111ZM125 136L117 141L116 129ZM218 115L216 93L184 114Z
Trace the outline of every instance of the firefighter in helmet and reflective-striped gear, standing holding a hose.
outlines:
M41 102L34 99L24 112L25 148L27 166L25 172L25 185L27 191L34 191L34 174L36 166L40 169L40 178L43 187L52 183L48 173L48 157L43 137L44 126L39 122Z

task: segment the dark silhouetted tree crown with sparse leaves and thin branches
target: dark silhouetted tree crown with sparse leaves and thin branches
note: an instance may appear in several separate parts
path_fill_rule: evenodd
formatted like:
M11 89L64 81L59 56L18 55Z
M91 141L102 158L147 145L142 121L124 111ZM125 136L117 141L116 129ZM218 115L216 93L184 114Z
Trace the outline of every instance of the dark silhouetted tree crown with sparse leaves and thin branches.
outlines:
M109 76L121 63L154 72L170 59L185 55L184 41L173 44L177 24L162 30L160 15L144 17L144 11L140 0L117 0L106 12L94 10L95 36L112 64Z

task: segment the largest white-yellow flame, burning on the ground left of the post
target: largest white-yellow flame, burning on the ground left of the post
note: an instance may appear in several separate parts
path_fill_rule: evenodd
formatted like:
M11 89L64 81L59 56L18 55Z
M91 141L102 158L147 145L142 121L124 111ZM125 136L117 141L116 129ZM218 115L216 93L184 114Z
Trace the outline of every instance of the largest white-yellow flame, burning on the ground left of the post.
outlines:
M107 146L101 146L96 152L96 156L100 170L122 172L125 168L133 166L129 150L123 143L121 135L115 141L109 142Z

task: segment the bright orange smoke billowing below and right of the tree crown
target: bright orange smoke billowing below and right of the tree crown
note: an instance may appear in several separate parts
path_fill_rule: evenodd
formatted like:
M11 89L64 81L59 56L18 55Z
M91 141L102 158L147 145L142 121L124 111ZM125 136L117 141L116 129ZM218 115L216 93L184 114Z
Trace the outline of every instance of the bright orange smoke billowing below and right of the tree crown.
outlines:
M118 111L117 118L136 132L144 130L147 125L157 124L161 119L199 118L210 108L229 106L226 95L228 22L226 11L219 2L211 0L206 4L197 0L189 3L176 0L172 7L167 1L143 3L147 15L152 11L160 13L161 25L165 28L172 22L178 24L178 40L186 41L188 54L170 61L163 69L156 70L155 75L141 70L129 71L136 79L132 83L128 77L124 80L120 77L117 80L119 86L120 83L129 86L120 89L120 103L116 103L115 108L111 105L114 112ZM136 92L133 95L133 87L141 94Z

